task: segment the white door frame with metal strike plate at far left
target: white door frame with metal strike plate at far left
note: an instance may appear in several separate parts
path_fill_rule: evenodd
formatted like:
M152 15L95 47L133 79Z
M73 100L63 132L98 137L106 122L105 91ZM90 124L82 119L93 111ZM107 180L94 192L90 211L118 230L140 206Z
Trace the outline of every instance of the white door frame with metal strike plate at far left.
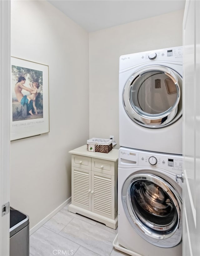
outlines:
M9 255L10 1L0 1L0 255ZM6 212L8 211L8 214Z

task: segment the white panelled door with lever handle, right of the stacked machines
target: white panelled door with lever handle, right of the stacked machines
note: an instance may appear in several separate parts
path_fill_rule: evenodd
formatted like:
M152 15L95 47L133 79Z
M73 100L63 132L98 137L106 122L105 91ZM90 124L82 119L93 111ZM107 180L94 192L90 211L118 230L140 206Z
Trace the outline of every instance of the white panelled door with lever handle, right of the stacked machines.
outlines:
M200 255L200 2L183 18L183 255Z

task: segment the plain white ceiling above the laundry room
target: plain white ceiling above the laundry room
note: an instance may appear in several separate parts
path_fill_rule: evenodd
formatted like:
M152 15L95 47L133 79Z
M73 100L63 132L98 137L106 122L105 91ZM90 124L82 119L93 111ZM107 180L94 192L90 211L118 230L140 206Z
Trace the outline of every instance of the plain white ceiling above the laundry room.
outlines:
M185 0L48 0L88 32L184 9Z

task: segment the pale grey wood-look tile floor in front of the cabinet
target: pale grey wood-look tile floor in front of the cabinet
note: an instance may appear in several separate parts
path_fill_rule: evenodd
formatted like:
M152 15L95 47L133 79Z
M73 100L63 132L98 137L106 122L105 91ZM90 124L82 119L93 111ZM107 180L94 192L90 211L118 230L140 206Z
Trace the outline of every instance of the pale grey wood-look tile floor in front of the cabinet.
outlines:
M30 236L30 256L123 256L113 247L117 229L68 211L68 205Z

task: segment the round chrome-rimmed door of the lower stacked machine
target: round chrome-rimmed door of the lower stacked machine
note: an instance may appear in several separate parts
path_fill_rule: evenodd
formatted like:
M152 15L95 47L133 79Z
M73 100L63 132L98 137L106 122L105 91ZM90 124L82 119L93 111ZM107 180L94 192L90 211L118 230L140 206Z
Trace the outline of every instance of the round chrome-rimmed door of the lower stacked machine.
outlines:
M163 178L131 175L123 184L122 201L130 224L147 242L171 248L182 241L182 200Z

